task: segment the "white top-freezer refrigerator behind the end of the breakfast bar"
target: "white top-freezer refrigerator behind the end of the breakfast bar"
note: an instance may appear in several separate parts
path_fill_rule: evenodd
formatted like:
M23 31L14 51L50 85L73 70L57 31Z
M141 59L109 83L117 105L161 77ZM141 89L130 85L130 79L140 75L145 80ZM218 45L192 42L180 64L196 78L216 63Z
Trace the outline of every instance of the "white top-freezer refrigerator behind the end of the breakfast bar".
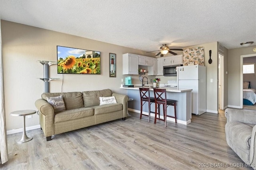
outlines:
M206 67L200 65L177 67L178 88L192 89L192 113L206 112Z

